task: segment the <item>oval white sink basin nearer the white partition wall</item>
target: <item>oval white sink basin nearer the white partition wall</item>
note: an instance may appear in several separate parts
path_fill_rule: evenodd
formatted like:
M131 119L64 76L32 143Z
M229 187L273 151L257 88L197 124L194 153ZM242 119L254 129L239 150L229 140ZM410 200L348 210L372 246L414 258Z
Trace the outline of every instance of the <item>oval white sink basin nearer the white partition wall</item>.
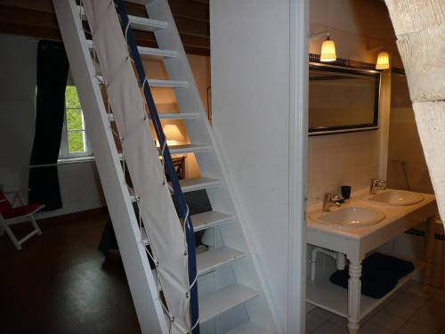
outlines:
M368 227L384 220L384 213L378 208L342 207L330 212L316 211L309 216L312 221L344 228Z

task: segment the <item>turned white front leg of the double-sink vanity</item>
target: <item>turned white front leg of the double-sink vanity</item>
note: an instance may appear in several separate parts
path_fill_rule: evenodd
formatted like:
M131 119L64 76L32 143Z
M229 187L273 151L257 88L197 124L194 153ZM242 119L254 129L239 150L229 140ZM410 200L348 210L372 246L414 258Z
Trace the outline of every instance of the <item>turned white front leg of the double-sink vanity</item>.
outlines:
M361 263L350 262L348 281L348 329L350 334L359 332Z

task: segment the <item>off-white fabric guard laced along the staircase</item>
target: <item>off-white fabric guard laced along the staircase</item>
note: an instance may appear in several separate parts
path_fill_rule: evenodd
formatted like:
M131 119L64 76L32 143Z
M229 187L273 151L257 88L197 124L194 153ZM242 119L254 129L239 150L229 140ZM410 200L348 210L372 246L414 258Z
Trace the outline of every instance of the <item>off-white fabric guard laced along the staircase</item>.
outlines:
M190 304L184 233L170 191L163 184L164 171L145 118L144 102L125 37L113 1L84 0L84 6L125 161L135 194L140 197L143 228L159 263L159 281L168 312L174 317L171 332L186 333L190 328Z

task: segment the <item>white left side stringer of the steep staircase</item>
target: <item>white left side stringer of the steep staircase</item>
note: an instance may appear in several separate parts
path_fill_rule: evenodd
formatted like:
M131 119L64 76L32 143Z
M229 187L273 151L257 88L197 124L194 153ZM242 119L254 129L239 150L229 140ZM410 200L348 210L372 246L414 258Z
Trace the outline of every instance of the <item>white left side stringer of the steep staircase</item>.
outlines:
M74 0L53 0L69 66L77 85L85 125L93 146L105 200L116 232L125 274L143 333L168 333L158 300L158 287L150 270L134 208L125 183L107 111L95 78L93 60Z

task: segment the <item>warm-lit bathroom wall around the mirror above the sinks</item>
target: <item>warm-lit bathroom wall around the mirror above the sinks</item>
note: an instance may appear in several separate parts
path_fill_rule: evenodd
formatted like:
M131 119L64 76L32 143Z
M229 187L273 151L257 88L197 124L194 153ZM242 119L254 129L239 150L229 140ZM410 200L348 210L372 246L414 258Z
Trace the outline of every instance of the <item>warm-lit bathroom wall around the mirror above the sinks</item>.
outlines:
M395 35L386 6L379 1L311 0L312 33L329 30L336 42L338 58L376 62L378 51L368 47L384 45L401 66ZM323 37L311 39L311 53L320 54ZM391 76L385 74L379 115L379 130L353 134L330 134L309 138L309 205L322 200L324 192L339 192L340 185L352 191L368 186L371 178L386 176Z

